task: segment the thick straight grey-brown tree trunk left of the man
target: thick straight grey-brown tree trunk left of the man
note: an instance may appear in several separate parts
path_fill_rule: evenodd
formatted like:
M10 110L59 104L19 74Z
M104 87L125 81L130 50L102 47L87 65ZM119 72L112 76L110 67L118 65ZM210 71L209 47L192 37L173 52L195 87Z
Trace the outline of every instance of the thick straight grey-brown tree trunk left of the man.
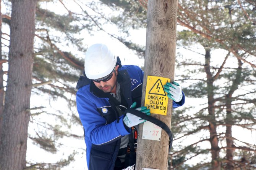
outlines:
M0 170L23 170L26 167L36 2L12 0Z

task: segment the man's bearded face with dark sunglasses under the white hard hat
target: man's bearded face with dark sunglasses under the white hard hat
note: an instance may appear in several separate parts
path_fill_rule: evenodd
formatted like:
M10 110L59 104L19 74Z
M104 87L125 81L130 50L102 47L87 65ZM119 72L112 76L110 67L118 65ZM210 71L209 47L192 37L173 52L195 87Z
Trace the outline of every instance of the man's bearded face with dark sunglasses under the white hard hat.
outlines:
M108 81L100 81L99 83L93 81L96 87L98 87L100 90L102 90L105 93L111 92L115 93L116 92L116 85L117 85L117 74L118 74L118 67L117 65L115 67L115 71L113 71L113 76L110 78ZM110 73L111 74L111 73Z

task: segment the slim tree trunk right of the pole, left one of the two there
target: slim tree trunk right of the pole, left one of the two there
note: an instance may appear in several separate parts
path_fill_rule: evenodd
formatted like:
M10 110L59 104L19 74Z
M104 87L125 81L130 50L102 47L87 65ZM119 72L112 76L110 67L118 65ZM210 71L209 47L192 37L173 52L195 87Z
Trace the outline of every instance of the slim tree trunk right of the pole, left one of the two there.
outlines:
M214 86L213 86L213 76L210 70L210 49L206 48L205 53L205 72L207 77L207 98L208 98L208 113L209 113L209 131L210 131L210 143L211 143L211 154L212 154L212 169L220 170L220 161L219 161L219 152L220 148L218 146L218 137L217 137L217 125L215 118L214 110Z

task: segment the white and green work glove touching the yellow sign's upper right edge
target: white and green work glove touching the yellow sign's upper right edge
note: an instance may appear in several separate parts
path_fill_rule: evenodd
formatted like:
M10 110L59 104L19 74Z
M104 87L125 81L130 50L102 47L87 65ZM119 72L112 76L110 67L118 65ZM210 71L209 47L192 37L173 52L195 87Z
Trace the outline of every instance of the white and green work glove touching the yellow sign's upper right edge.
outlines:
M174 102L180 102L182 99L180 84L173 81L172 83L166 83L164 85L164 91L167 92L167 96Z

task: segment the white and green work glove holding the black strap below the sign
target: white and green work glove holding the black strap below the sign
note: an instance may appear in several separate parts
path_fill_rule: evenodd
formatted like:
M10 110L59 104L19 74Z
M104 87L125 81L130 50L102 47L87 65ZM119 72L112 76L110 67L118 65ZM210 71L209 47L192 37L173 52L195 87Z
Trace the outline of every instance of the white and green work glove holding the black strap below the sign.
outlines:
M136 107L136 102L134 102L130 108L135 108ZM136 108L136 110L138 111L141 111L147 115L150 115L150 110L147 109L147 107L145 106L142 106L142 107L139 107L139 108ZM123 123L127 126L127 127L133 127L133 126L136 126L140 123L144 123L146 122L146 120L144 119L141 119L140 117L138 116L135 116L134 114L131 114L131 113L126 113L125 117L123 118Z

